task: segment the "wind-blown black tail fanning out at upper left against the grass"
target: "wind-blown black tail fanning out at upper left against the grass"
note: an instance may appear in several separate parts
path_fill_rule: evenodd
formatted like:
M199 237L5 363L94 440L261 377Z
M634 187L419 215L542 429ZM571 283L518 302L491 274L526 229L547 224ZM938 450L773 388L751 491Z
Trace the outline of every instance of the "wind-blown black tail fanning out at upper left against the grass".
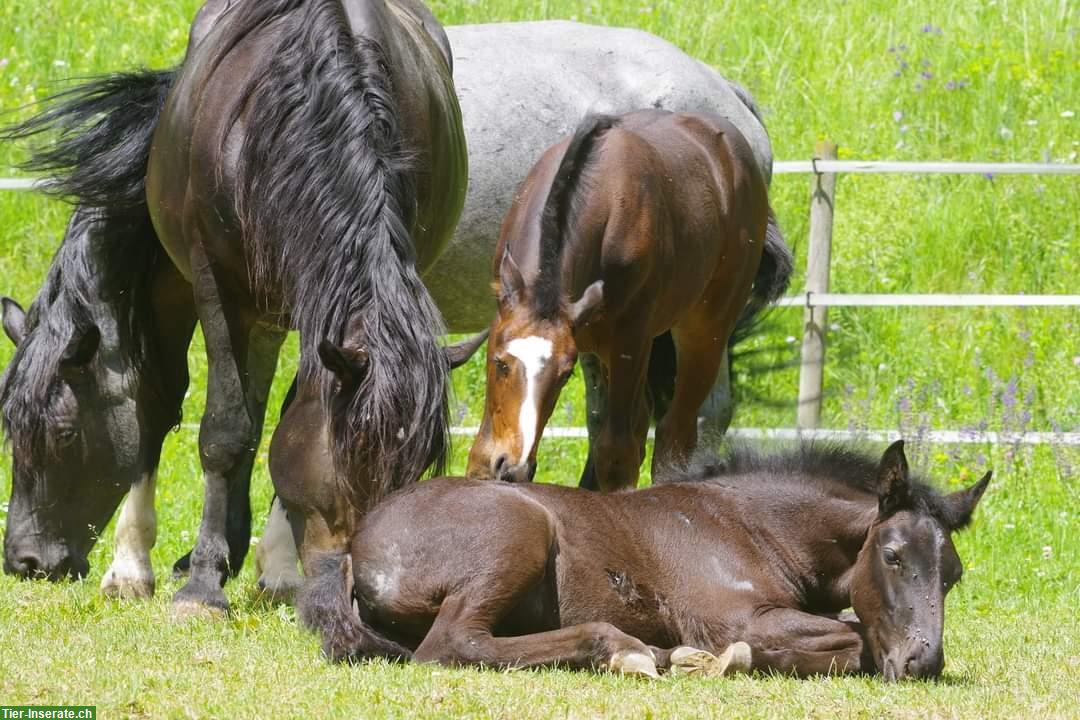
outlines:
M0 140L55 133L23 169L43 173L49 193L110 212L146 205L150 140L176 70L95 78L42 100L45 109L0 130Z

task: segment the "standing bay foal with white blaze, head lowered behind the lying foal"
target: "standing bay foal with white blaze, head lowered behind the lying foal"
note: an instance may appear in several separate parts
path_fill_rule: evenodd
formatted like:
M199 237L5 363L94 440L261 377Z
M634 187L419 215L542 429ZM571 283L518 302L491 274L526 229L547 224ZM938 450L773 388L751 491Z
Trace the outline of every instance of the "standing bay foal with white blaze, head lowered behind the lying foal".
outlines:
M607 390L592 447L598 487L636 486L652 342L669 331L675 386L653 468L689 460L737 321L748 301L764 307L786 287L771 260L786 253L771 216L751 147L723 118L592 117L549 149L522 184L492 261L498 312L469 475L530 480L558 393L578 354L592 353Z

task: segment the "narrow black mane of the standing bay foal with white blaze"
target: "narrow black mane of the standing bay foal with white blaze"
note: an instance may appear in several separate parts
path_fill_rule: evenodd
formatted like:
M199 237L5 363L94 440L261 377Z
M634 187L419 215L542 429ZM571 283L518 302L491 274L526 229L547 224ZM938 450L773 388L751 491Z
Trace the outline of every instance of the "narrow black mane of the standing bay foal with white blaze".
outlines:
M540 261L532 288L532 309L540 317L552 318L562 307L559 279L566 237L570 232L573 201L585 180L592 150L599 137L618 122L610 116L590 116L578 125L566 148L540 216Z

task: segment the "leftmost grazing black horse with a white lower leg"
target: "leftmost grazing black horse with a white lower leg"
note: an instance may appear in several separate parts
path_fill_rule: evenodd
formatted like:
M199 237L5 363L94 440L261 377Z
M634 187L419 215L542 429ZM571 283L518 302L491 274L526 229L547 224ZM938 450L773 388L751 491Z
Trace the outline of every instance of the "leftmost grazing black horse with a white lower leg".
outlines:
M0 381L12 449L6 572L85 573L96 532L130 490L102 587L153 593L154 474L164 436L179 421L195 324L190 286L158 243L144 194L172 78L100 79L4 135L57 127L57 141L29 168L53 171L50 191L79 202L28 312L3 300L3 327L16 345ZM237 545L243 553L246 539Z

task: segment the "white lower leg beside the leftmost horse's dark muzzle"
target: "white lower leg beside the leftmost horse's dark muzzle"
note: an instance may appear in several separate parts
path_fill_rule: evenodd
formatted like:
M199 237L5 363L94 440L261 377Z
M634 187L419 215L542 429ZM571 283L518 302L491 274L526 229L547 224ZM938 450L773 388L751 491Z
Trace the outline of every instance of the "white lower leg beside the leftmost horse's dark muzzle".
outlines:
M117 548L112 565L102 578L102 592L121 598L153 595L150 548L158 539L153 507L157 478L149 475L132 486L117 519Z

